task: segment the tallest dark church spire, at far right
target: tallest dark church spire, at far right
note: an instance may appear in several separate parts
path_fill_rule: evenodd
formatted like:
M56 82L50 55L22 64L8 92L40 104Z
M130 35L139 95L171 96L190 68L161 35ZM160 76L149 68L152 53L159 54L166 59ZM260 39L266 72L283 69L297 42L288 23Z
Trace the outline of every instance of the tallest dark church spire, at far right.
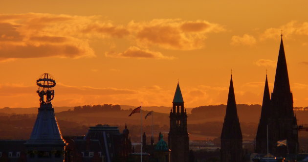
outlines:
M276 156L285 156L287 152L298 151L298 130L296 116L293 112L293 94L290 91L286 67L286 55L281 35L274 90L271 95L268 116L269 152ZM277 147L278 140L287 140L287 147Z

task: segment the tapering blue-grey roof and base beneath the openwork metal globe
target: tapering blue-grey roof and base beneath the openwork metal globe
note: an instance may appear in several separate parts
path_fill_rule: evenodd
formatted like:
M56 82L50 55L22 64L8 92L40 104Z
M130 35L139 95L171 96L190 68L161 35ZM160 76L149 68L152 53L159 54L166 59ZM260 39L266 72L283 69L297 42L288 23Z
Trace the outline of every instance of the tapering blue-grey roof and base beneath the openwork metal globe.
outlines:
M26 141L27 162L63 162L65 141L51 104L41 104L30 139Z

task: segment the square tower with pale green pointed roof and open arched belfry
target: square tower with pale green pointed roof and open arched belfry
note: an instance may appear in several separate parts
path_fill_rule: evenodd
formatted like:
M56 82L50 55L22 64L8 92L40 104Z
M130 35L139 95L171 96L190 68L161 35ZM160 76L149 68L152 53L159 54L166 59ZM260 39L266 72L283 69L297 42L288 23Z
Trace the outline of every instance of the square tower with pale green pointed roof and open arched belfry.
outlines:
M187 114L186 110L184 111L184 100L178 83L172 103L173 107L169 116L170 131L168 134L168 145L171 150L170 162L188 162Z

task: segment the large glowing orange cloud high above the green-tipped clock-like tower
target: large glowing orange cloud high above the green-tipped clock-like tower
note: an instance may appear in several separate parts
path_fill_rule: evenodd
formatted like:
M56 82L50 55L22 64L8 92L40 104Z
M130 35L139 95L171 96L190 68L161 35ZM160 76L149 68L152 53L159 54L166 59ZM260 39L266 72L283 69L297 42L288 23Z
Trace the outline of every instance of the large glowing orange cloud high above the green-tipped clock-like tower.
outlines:
M154 19L151 22L128 24L134 40L143 46L159 46L166 49L192 50L204 46L206 33L225 29L206 21L182 21L180 19Z

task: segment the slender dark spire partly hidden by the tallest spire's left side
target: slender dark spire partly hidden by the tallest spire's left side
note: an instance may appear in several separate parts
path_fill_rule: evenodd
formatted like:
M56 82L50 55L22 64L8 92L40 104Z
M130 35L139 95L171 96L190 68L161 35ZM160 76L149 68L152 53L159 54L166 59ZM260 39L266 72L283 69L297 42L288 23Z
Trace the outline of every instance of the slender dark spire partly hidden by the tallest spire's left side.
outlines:
M269 88L266 75L261 117L256 136L256 152L259 154L267 153L267 118L269 115L269 109L270 109L270 96L269 96Z

